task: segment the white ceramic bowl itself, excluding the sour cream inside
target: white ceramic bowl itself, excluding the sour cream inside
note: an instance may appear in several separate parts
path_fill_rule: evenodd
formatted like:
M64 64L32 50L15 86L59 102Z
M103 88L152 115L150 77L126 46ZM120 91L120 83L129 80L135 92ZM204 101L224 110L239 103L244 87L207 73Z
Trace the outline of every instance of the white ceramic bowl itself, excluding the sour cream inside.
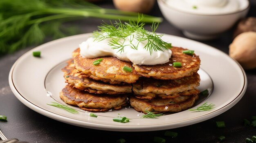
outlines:
M232 13L198 14L172 7L166 3L166 0L157 0L157 3L166 20L181 29L186 37L195 40L210 40L218 37L239 19L244 18L250 6L248 4L245 9Z

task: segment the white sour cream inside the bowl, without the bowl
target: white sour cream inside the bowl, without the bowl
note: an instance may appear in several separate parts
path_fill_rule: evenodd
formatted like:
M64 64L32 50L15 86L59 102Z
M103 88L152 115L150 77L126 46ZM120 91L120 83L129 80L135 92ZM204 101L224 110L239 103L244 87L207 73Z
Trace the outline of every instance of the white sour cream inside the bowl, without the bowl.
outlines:
M175 9L202 15L234 13L246 9L248 0L166 0Z

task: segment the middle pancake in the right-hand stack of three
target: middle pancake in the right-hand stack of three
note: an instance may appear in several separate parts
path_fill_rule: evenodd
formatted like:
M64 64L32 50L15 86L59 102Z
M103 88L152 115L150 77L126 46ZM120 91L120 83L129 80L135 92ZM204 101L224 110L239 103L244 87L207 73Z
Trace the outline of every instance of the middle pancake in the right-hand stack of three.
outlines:
M133 84L132 91L138 98L152 99L155 97L175 98L187 91L191 94L198 94L195 90L200 84L200 76L194 73L190 77L184 77L175 80L161 80L153 78L141 78ZM189 90L189 91L188 91ZM179 94L180 93L180 94ZM188 95L188 93L186 93Z

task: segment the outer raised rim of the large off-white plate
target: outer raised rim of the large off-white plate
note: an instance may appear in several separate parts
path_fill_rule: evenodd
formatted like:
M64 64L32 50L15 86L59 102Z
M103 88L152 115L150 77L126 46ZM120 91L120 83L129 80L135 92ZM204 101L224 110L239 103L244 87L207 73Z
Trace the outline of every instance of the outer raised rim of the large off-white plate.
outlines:
M91 128L91 129L97 129L97 130L108 130L108 131L122 131L122 132L134 132L134 131L141 132L141 131L155 131L155 130L170 129L170 126L175 124L175 123L169 123L168 125L161 124L161 125L139 125L139 126L130 125L130 126L127 126L127 125L124 125L124 124L120 124L120 125L98 124L98 123L92 123L92 122L88 122L88 121L81 121L81 120L77 120L77 119L72 119L70 117L65 117L63 115L59 115L59 114L56 114L54 112L50 112L46 109L43 109L43 108L35 105L31 101L27 100L23 95L20 94L20 92L18 92L18 90L16 89L16 87L13 83L13 70L15 69L16 65L19 63L20 59L22 59L22 57L28 55L29 53L31 53L31 51L34 51L36 48L40 48L41 46L47 46L47 44L51 44L53 42L57 42L59 40L65 39L65 38L76 38L76 37L80 37L80 36L88 35L88 34L91 34L91 33L73 35L73 36L69 36L69 37L60 38L58 40L53 40L53 41L47 42L45 44L36 46L35 48L32 48L31 50L27 51L22 56L20 56L16 60L16 62L13 64L13 66L11 67L11 70L9 72L9 86L10 86L13 94L16 96L16 98L19 99L25 106L27 106L30 109L38 112L39 114L43 114L44 116L55 119L57 121L61 121L61 122L64 122L64 123L68 123L68 124L72 124L72 125L76 125L76 126L80 126L80 127L84 127L84 128ZM166 35L169 35L169 34L166 34ZM190 39L187 39L187 38L184 38L184 37L179 37L179 36L175 36L175 35L171 35L171 36L181 38L182 40L189 40L189 41L192 41L192 42L197 42L199 44L204 44L204 43L194 41L194 40L190 40ZM207 44L204 44L204 45L207 45ZM219 50L218 48L214 48L213 46L209 46L209 45L207 45L207 46L209 48L213 48L214 50L218 50L219 52L224 53L225 55L227 55L227 53ZM246 74L245 74L245 70L242 68L242 66L236 60L234 60L231 57L230 57L230 59L232 59L234 62L236 62L236 64L238 64L240 70L243 73L244 83L243 83L243 88L241 89L240 93L237 94L237 96L234 100L230 101L228 104L226 104L222 108L220 108L218 110L215 110L213 112L209 112L208 114L204 114L204 115L200 115L198 117L194 117L192 119L193 122L189 122L189 120L191 120L191 119L183 120L183 122L185 122L185 123L182 123L180 125L175 125L175 128L183 127L183 126L186 126L186 125L192 125L192 124L199 123L199 122L202 122L202 121L206 121L208 119L216 117L219 114L222 114L223 112L226 112L227 110L232 108L243 97L243 95L245 94L245 91L247 89L247 77L246 77Z

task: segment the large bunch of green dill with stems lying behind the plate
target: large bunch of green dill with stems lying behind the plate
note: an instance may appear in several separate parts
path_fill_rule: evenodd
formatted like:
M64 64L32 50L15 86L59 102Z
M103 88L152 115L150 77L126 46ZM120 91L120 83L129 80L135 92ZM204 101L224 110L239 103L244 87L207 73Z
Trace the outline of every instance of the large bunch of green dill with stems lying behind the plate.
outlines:
M64 28L62 23L88 17L128 21L138 14L103 9L85 0L0 0L0 55L40 44L46 36L73 35L74 28ZM142 21L162 19L145 15Z

